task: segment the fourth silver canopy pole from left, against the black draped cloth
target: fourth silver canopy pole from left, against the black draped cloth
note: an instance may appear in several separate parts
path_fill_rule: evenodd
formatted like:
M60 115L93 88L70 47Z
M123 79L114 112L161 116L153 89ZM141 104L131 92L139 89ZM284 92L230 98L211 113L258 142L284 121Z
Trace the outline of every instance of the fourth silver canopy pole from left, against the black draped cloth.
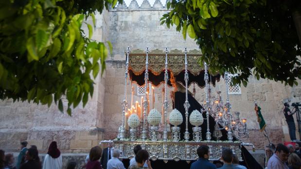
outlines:
M185 121L186 130L185 130L185 134L184 134L185 141L189 140L189 132L188 132L188 109L190 108L190 104L188 102L188 80L189 80L189 77L188 77L188 70L187 69L188 69L187 48L185 47L185 77L184 77L185 87L186 87L186 100L185 100L185 103L184 103L185 117L186 117L186 121Z

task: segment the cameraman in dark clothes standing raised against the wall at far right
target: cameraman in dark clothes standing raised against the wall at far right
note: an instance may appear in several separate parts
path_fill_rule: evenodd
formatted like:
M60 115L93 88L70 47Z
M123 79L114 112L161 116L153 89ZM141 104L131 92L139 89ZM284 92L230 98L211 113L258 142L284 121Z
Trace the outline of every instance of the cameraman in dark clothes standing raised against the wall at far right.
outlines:
M289 104L284 103L284 109L283 113L285 116L286 123L288 125L288 133L289 137L291 138L292 141L296 140L296 126L293 118L293 113L289 109Z

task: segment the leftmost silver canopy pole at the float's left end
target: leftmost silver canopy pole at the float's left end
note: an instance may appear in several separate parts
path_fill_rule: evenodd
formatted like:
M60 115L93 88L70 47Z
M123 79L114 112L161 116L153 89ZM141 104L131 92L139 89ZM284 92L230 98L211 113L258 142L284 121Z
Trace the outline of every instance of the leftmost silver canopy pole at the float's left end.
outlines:
M124 122L124 121L125 121L125 110L127 108L126 86L127 86L127 77L128 77L129 52L130 52L130 47L127 47L127 49L126 49L125 73L124 73L124 100L122 102L122 125L119 127L118 137L117 137L120 140L124 140L124 133L125 133L124 123L126 123L126 122Z

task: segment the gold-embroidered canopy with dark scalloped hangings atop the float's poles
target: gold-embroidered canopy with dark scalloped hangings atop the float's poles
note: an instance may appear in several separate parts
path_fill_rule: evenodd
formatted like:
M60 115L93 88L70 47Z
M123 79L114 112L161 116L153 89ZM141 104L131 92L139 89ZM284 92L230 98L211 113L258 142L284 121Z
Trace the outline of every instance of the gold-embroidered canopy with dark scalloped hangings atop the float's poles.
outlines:
M202 56L198 50L187 52L189 81L196 83L199 87L205 86L204 69L198 64L199 58ZM142 50L134 50L129 54L129 76L130 79L137 83L139 86L144 85L146 53ZM175 86L175 82L185 84L185 54L180 50L172 50L167 55L168 61L168 85ZM148 53L148 71L149 81L158 86L164 83L165 73L165 53L161 50L153 50ZM215 85L215 81L219 81L220 75L216 74L209 76L209 82Z

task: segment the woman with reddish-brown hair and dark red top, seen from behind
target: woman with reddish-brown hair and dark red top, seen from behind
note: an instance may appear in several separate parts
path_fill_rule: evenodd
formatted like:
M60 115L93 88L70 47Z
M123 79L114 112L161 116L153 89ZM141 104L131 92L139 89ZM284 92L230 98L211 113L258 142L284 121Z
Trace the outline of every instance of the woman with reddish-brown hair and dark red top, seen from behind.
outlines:
M90 161L86 165L86 169L102 169L99 159L102 154L102 149L99 146L92 147L89 153Z

